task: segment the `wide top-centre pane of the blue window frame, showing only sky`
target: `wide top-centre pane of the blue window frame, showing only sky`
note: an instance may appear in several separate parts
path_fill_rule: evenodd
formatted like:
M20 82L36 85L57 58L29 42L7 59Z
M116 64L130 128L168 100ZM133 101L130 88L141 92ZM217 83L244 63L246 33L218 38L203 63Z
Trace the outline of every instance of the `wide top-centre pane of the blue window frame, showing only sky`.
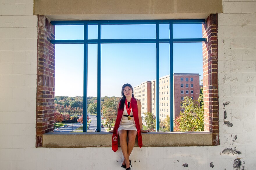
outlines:
M155 39L156 25L102 25L102 39Z

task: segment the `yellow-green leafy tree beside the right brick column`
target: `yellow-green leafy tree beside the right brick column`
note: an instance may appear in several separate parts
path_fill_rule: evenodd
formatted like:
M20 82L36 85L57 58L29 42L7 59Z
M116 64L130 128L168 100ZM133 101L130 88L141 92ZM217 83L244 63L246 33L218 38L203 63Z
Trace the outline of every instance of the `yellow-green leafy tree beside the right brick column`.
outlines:
M175 131L204 131L203 93L198 100L186 96L181 103L184 112L175 119Z

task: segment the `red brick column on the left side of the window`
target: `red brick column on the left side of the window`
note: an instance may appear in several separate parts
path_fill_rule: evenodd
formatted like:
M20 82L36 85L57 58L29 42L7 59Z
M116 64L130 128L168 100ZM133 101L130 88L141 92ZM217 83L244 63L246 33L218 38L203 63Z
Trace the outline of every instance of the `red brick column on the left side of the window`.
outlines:
M42 134L54 130L55 27L45 16L38 16L36 147Z

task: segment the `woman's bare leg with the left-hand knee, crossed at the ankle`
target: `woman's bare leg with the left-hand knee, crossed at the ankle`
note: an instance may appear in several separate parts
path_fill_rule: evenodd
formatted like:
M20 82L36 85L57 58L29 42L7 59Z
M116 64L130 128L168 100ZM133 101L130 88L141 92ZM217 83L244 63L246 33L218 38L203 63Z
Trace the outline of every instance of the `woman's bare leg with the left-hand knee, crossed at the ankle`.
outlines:
M127 130L120 130L118 132L118 134L119 134L119 138L120 138L120 146L122 149L122 153L125 158L124 162L125 162L125 164L129 165L130 162L129 162L129 157L128 157L128 145L127 145L127 140L126 140L127 139ZM129 163L127 162L127 160ZM123 165L125 165L124 162L122 163Z

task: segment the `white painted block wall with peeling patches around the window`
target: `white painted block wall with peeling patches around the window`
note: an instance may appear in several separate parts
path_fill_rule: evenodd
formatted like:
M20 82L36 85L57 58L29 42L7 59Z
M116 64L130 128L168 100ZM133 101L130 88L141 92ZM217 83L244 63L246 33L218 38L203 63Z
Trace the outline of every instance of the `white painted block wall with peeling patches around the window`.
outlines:
M255 0L223 0L218 14L220 146L134 148L132 169L256 169L255 12ZM0 169L121 169L120 149L35 148L36 48L33 0L1 0Z

